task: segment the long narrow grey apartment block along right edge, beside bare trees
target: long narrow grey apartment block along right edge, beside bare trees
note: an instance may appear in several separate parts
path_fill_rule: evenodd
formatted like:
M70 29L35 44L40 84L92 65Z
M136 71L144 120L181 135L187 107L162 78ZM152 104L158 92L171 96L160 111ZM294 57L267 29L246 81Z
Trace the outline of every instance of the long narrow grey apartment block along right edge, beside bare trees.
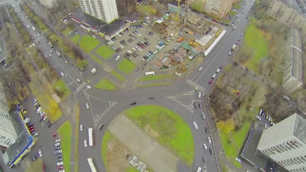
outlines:
M282 80L282 87L289 93L303 84L302 46L299 31L291 29L287 38L287 53Z

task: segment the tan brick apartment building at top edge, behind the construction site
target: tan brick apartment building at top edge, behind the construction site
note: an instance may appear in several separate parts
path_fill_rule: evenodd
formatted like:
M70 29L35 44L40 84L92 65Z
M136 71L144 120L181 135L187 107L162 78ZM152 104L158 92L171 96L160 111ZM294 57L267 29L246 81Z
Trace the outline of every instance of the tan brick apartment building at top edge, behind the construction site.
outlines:
M187 0L186 4L189 7L199 4L205 13L222 19L231 11L236 2L237 0Z

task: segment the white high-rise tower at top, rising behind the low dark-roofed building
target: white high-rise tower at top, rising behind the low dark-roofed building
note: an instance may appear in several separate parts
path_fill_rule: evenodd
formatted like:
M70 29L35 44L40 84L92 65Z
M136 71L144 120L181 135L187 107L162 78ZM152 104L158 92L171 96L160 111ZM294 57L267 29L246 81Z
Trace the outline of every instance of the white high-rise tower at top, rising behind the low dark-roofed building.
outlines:
M84 13L106 23L119 19L116 0L80 0L80 4Z

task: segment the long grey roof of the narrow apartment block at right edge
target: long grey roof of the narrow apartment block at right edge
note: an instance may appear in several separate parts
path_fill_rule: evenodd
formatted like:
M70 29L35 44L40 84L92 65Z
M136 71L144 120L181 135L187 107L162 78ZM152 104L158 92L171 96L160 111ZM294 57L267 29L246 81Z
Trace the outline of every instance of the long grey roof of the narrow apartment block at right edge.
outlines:
M303 82L303 64L301 53L301 39L299 31L292 29L292 70L291 75Z

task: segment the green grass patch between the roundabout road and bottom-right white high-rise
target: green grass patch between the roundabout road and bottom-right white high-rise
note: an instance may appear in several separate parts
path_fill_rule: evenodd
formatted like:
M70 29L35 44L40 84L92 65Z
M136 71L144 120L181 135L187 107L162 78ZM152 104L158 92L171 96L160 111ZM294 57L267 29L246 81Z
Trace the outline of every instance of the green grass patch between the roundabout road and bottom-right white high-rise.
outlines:
M243 141L245 140L249 127L250 123L245 122L238 131L233 131L229 134L219 132L219 136L221 139L222 147L224 149L226 158L238 168L241 168L242 165L241 163L235 160L239 152L239 150L236 149L236 146L238 149L241 149L241 146L243 144Z

